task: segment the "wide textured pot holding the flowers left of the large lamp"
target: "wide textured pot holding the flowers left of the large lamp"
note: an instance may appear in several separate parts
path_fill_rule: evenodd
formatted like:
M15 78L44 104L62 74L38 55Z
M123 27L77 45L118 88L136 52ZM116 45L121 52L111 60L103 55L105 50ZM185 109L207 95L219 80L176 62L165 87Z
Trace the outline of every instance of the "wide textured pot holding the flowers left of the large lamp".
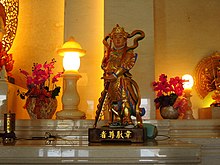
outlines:
M25 108L31 119L52 119L57 109L57 99L28 97Z

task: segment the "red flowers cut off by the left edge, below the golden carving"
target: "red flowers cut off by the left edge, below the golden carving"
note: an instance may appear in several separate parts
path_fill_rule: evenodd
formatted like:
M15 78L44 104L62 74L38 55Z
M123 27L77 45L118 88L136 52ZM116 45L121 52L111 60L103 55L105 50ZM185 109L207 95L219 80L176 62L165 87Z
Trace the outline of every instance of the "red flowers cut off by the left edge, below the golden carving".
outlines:
M5 70L7 73L12 71L14 65L14 60L12 58L12 54L8 54L6 51L2 50L2 43L0 43L0 71L2 67L5 66Z

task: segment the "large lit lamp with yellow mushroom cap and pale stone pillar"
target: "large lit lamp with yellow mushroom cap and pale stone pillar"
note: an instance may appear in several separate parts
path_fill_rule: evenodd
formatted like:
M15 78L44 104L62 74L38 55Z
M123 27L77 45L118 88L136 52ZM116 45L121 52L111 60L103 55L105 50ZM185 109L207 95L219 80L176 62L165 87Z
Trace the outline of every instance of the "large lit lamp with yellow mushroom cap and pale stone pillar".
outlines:
M63 110L56 113L57 119L84 119L85 113L78 110L80 97L77 91L77 81L81 77L78 73L80 57L85 55L79 43L73 37L57 50L63 56Z

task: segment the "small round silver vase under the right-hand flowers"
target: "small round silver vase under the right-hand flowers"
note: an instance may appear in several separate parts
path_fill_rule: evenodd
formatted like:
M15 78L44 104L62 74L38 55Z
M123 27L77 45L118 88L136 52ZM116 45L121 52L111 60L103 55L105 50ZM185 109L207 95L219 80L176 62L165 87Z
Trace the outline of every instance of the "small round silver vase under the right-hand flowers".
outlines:
M179 112L173 106L160 107L160 115L163 119L178 119Z

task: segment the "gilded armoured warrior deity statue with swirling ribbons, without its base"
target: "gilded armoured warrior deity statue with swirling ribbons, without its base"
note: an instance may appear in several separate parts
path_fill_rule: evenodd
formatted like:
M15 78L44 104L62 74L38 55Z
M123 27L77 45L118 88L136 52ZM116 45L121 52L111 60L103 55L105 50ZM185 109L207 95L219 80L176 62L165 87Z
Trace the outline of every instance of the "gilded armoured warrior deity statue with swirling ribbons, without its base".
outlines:
M127 40L138 35L133 45L128 47ZM145 113L140 108L140 92L137 83L132 79L129 72L135 65L137 54L133 52L138 46L138 41L145 34L141 30L135 30L131 34L125 32L124 28L116 25L112 32L107 35L103 44L105 54L101 68L104 71L104 91L97 106L95 124L100 119L100 113L108 111L109 123L107 126L134 126L131 116L136 117L137 126L142 127L141 116ZM110 39L110 41L108 41Z

